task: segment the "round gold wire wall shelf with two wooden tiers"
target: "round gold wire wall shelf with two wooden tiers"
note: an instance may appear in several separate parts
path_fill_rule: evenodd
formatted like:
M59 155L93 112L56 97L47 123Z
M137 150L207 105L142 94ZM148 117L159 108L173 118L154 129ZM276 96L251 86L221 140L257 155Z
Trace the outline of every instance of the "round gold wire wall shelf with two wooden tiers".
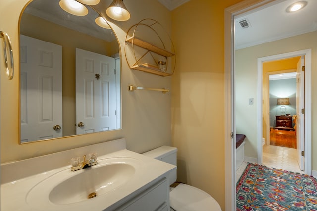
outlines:
M125 57L131 69L159 76L173 75L174 45L159 22L141 20L128 30L125 43Z

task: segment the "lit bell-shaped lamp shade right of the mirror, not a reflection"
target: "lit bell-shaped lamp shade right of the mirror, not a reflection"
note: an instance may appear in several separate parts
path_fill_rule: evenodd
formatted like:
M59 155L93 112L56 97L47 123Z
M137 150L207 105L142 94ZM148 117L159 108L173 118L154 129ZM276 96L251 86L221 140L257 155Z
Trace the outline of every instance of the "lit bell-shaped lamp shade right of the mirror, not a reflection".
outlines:
M106 9L106 14L117 21L127 21L130 19L130 13L125 7L123 0L113 0Z

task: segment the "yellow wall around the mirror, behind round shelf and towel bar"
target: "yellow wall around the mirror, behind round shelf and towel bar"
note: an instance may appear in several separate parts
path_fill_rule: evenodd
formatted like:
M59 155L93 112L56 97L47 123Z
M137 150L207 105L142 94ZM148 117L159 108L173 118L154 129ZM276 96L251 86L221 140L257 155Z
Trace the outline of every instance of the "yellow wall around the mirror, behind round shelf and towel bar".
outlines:
M144 18L159 21L171 34L171 12L159 1L133 0L125 2L131 19L126 22L113 21L110 25L116 32L122 51L122 129L100 132L50 141L19 144L19 30L20 13L28 0L1 0L1 31L9 34L15 58L15 77L7 80L1 71L1 163L27 159L62 150L100 143L125 137L127 148L144 152L161 145L171 145L171 94L161 92L129 92L128 85L171 88L171 77L160 77L130 70L124 55L126 31ZM102 1L101 1L102 2ZM112 0L103 1L109 5ZM102 13L105 10L102 9ZM155 12L153 12L155 11ZM105 14L104 14L105 15ZM89 43L87 43L89 44ZM1 59L1 70L4 67ZM5 123L5 124L4 124Z

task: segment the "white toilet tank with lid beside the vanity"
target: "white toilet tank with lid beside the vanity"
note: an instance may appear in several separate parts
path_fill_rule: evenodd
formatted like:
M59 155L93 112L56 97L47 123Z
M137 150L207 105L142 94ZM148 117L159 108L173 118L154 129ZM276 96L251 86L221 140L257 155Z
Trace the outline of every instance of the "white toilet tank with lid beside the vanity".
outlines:
M177 148L176 147L161 146L159 148L145 152L142 155L177 166ZM174 169L170 172L168 176L170 185L176 182L176 177L177 177L176 169Z

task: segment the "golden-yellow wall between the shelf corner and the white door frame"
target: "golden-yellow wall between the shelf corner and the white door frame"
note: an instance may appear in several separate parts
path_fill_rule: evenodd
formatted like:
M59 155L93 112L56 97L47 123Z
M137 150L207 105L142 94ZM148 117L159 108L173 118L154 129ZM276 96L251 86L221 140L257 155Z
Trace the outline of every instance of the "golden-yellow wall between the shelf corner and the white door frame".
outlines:
M191 0L172 14L172 145L178 180L224 210L224 9L241 0Z

